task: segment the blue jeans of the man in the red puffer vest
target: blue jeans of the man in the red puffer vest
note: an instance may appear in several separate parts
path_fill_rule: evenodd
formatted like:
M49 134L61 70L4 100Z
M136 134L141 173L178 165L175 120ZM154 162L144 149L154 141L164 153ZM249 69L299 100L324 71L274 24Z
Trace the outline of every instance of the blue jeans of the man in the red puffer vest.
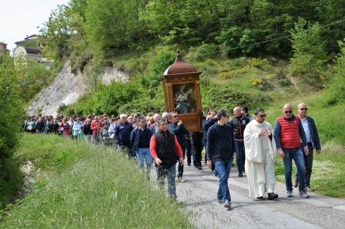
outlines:
M293 182L291 181L291 173L293 171L293 160L295 161L298 171L299 191L304 190L304 152L301 147L295 149L282 149L284 151L284 173L286 190L293 191Z

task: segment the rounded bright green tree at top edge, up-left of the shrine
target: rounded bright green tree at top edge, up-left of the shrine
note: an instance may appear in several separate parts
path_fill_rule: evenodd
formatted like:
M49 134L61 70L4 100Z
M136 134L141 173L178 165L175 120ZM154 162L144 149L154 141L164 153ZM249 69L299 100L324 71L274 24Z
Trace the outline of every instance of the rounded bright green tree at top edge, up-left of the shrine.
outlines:
M90 0L86 8L86 32L96 49L125 49L141 28L137 1Z

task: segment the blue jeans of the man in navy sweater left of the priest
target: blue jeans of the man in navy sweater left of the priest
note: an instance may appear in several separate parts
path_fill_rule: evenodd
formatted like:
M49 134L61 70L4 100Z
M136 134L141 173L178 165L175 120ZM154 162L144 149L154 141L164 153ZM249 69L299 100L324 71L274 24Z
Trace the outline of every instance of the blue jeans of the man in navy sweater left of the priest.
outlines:
M233 166L233 158L226 161L215 161L215 167L219 177L219 187L217 197L223 201L231 201L230 192L228 188L228 178L230 175L231 167Z

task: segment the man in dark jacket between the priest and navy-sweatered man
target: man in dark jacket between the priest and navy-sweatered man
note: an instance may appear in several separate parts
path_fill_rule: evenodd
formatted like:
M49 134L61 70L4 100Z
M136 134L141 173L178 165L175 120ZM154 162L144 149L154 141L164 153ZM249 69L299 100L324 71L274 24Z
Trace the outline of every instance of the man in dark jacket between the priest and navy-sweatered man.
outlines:
M230 120L230 125L233 127L236 145L236 164L238 169L238 176L242 177L244 172L244 162L246 160L246 155L244 153L244 129L246 129L247 124L250 120L241 113L241 107L234 108L235 117Z

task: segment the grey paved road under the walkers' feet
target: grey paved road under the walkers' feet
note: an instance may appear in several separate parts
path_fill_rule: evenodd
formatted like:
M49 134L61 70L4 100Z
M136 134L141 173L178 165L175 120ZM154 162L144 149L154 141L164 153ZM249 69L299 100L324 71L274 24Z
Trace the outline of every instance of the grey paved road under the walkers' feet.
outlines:
M203 165L201 171L184 166L186 183L177 182L179 201L193 210L190 222L197 228L345 228L345 199L336 199L315 193L309 198L286 197L285 184L278 183L275 193L279 198L251 199L248 197L248 179L237 176L233 168L228 181L232 208L217 203L218 177ZM345 190L344 190L345 191Z

